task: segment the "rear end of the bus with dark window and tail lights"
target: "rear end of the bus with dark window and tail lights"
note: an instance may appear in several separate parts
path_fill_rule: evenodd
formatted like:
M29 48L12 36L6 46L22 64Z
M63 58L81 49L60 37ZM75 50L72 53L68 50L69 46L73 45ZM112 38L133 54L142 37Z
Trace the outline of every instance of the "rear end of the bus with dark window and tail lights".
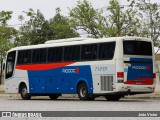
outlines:
M154 50L151 40L132 38L122 40L123 72L117 72L120 91L127 94L152 93L155 90Z

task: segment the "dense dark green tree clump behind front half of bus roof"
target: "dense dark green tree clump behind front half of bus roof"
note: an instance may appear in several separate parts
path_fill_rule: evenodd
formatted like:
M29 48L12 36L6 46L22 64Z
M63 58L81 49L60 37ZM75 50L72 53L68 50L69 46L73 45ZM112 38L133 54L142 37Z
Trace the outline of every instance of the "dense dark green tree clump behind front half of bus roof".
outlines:
M19 29L19 34L16 37L15 45L34 45L43 44L50 39L62 39L77 37L79 34L69 26L67 18L60 14L60 9L56 10L56 15L46 20L40 10L36 12L33 9L24 12L29 20L25 22ZM18 18L22 24L24 16Z

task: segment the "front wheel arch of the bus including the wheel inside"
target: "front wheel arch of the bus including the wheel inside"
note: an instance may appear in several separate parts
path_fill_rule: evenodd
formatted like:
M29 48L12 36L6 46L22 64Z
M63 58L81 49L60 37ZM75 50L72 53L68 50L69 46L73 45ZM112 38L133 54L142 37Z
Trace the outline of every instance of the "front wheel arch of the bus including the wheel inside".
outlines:
M29 99L31 99L31 94L28 93L27 85L26 85L25 82L21 82L19 84L19 90L18 91L21 94L21 98L23 100L29 100Z

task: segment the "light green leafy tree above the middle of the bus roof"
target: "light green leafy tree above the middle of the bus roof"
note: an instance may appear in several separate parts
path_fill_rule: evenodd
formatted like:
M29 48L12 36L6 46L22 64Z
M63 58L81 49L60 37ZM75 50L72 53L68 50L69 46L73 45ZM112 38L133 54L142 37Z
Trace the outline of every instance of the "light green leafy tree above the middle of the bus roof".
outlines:
M70 24L76 30L83 30L91 37L103 37L102 11L95 10L87 0L78 1L76 7L69 9Z

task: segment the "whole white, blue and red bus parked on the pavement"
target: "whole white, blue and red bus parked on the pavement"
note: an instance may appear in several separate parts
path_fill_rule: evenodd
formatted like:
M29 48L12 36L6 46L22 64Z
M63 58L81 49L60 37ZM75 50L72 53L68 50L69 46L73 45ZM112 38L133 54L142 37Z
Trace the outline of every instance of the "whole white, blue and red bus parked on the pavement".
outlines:
M8 51L5 92L109 101L155 90L154 47L142 37L71 38Z

